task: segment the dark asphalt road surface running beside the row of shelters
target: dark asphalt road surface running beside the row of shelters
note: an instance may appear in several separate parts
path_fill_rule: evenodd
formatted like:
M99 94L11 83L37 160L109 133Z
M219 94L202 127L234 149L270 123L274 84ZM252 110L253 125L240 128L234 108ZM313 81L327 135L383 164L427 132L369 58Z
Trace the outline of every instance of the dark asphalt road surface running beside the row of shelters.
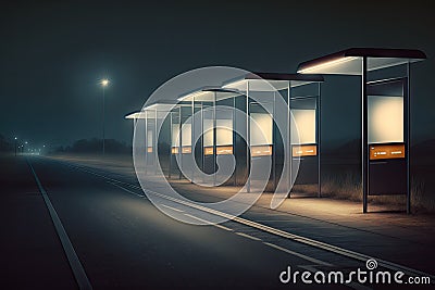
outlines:
M287 266L312 273L364 267L234 222L223 227L177 222L140 190L61 162L23 156L1 162L3 289L78 288L32 167L94 289L340 289L283 285L278 277Z

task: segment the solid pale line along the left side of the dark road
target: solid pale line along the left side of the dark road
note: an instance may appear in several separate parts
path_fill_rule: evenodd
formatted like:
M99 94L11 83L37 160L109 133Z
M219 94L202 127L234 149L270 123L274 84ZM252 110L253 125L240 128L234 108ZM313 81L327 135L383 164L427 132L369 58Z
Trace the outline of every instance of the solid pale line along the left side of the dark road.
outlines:
M55 212L53 205L51 204L51 201L47 194L47 191L44 189L42 184L40 182L38 176L36 175L34 166L32 166L32 163L27 159L26 159L26 161L27 161L28 166L30 167L30 171L35 177L36 184L38 185L39 191L42 194L46 206L50 213L51 220L53 222L58 237L61 240L63 251L66 254L66 259L70 263L71 269L73 270L74 278L77 281L78 288L79 289L92 289L92 286L90 285L89 279L86 276L86 272L80 263L80 260L77 256L77 253L74 250L73 244L71 243L71 240L66 234L66 230L63 227L62 222L59 218L59 215Z

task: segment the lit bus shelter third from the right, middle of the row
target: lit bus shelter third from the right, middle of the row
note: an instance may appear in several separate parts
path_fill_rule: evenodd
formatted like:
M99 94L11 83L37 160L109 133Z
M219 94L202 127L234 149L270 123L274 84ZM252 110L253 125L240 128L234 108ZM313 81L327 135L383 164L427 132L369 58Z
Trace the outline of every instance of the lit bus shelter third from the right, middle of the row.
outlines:
M199 178L202 185L237 185L238 168L235 167L228 176L222 171L219 171L217 159L222 166L233 164L238 156L236 154L238 139L235 126L236 100L240 98L237 91L224 90L221 88L202 88L194 92L183 94L178 98L182 105L189 104L190 110L187 121L189 129L186 136L194 143L195 152L190 152L187 164L183 165L186 168L192 168L192 162L203 174L198 174L198 171L184 171L185 175L191 181ZM184 125L183 125L184 126ZM183 130L183 126L181 126ZM185 137L183 137L185 138ZM187 153L187 152L186 152ZM223 168L221 168L223 169ZM220 174L221 173L221 174ZM197 176L196 176L197 175Z

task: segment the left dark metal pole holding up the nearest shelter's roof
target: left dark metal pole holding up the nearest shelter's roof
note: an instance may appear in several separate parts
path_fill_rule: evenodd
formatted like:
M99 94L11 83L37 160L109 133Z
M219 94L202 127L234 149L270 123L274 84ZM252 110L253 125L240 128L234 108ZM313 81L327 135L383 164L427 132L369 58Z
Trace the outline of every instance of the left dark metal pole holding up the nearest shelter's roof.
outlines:
M361 100L362 100L362 212L368 212L369 196L369 144L368 144L368 96L366 96L366 56L362 58L361 63Z

